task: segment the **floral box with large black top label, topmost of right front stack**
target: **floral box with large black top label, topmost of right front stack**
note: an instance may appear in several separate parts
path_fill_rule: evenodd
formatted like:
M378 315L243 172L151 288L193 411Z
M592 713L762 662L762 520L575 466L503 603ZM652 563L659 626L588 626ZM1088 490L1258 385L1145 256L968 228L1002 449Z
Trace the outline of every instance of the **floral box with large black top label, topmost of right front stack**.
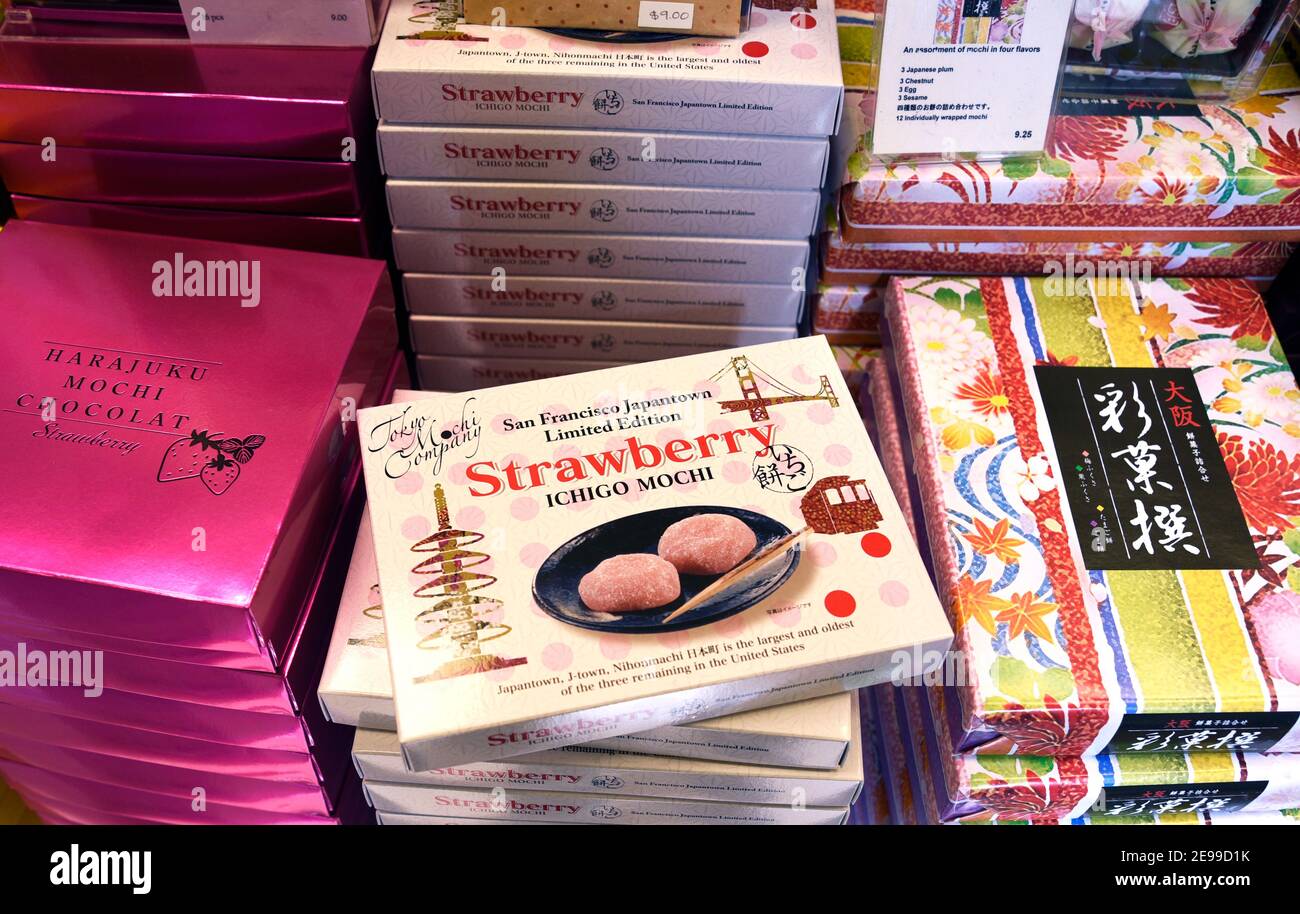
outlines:
M1062 291L907 278L890 287L887 319L958 632L953 749L1300 749L1300 391L1257 293L1232 280ZM1071 454L1089 430L1112 434L1092 412L1062 423L1045 406L1069 406L1078 387L1096 410L1095 385L1127 391L1134 377L1187 400L1127 404L1130 426L1158 413L1166 434L1164 451L1154 438L1140 449L1165 473L1183 468L1156 480L1154 497L1127 489L1150 478L1117 464L1119 450ZM1080 510L1086 482L1093 501ZM1162 499L1179 486L1174 510ZM1205 493L1214 503L1197 507ZM1164 521L1193 515L1200 545L1162 523L1167 543L1148 550L1139 503Z

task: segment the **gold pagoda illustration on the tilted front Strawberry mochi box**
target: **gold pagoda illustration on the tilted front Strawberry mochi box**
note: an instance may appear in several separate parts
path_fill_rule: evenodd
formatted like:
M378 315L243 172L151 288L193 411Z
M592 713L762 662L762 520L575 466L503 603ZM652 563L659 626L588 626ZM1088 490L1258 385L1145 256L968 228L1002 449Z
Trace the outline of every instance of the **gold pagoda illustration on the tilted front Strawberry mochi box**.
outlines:
M411 547L412 553L429 553L411 571L428 575L429 580L417 586L413 595L434 601L416 614L416 625L425 632L417 646L433 651L437 666L432 672L417 676L417 683L428 683L455 676L469 676L517 667L528 658L508 658L485 653L489 641L510 634L510 625L494 621L491 616L502 608L502 602L485 594L497 577L472 571L491 556L471 549L484 540L482 533L460 530L451 525L447 497L442 486L433 489L438 529Z

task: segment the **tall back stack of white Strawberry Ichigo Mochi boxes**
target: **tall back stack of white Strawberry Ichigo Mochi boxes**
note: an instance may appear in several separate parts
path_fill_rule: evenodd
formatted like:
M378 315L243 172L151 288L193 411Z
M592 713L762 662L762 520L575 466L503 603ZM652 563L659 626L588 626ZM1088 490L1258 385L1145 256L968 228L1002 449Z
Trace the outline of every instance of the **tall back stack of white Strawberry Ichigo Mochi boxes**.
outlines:
M798 334L844 95L833 8L585 35L390 10L380 155L426 387Z

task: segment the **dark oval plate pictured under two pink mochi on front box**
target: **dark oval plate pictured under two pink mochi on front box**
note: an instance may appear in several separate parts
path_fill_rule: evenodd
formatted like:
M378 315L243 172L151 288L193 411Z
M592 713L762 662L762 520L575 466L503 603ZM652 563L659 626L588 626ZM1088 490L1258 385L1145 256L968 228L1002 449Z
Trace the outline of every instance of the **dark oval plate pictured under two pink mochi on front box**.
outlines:
M697 514L729 514L745 521L758 537L755 551L790 534L790 529L785 524L772 520L767 515L718 504L659 508L629 517L619 517L577 534L551 553L542 567L537 569L537 577L533 579L533 598L547 615L569 625L589 628L593 632L621 634L679 632L707 625L749 608L775 593L798 567L801 549L796 545L786 553L784 562L776 559L767 563L760 571L737 581L733 586L715 594L707 602L670 623L664 623L664 619L716 581L720 575L682 575L681 595L656 610L623 614L593 612L582 605L582 599L577 595L577 582L582 580L582 575L612 555L655 554L659 537L670 525Z

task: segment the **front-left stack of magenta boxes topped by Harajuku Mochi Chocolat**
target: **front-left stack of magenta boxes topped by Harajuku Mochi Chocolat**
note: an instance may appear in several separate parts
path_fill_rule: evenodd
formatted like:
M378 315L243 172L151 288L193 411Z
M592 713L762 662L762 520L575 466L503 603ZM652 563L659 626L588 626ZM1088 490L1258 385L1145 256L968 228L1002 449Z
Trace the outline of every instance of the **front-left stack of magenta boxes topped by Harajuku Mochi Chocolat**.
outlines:
M399 380L381 261L0 233L0 777L48 822L330 823L315 684ZM309 311L304 311L309 302Z

